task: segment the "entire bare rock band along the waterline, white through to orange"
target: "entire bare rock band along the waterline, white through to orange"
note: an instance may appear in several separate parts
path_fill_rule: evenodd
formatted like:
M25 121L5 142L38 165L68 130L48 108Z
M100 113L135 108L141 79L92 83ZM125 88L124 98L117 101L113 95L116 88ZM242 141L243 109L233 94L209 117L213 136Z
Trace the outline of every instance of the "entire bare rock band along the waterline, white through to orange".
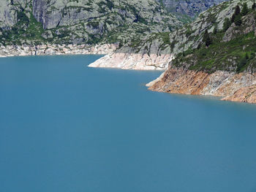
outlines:
M169 66L171 54L116 53L117 45L37 45L1 47L0 57L23 55L106 54L90 67L166 70L147 86L151 91L219 96L225 101L256 103L256 73L217 71L212 74Z

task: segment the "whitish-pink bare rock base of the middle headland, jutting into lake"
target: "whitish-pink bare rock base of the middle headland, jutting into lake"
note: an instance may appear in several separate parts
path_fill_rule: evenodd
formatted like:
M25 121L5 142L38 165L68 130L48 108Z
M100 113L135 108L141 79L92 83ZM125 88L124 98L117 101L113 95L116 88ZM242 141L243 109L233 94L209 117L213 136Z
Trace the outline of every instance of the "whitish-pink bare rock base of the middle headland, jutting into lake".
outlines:
M90 67L106 67L137 70L164 70L173 59L173 55L140 54L140 53L110 53L99 58Z

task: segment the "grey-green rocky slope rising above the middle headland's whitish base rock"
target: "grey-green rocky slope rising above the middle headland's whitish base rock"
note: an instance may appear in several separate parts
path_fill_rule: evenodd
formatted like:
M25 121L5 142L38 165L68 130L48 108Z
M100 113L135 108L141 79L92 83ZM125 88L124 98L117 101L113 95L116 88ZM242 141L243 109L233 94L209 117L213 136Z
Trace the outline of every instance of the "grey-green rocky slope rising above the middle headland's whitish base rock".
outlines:
M203 42L203 34L206 29L209 33L212 33L214 28L221 31L225 18L231 18L236 5L243 2L247 2L248 6L252 7L253 1L223 2L216 7L211 7L206 12L202 12L192 23L187 23L176 31L148 34L143 39L135 38L130 44L122 47L120 51L125 52L129 49L129 52L150 54L156 53L155 50L158 50L158 54L169 52L176 55L189 49L195 49Z

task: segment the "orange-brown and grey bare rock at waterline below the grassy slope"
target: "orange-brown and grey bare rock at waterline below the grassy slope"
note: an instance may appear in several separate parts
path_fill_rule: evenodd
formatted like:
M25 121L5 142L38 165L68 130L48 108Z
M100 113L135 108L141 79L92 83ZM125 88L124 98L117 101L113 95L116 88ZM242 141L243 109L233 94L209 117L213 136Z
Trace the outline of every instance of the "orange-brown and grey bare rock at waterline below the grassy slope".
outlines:
M221 96L226 101L256 103L256 74L217 71L212 74L170 66L158 80L148 83L151 91Z

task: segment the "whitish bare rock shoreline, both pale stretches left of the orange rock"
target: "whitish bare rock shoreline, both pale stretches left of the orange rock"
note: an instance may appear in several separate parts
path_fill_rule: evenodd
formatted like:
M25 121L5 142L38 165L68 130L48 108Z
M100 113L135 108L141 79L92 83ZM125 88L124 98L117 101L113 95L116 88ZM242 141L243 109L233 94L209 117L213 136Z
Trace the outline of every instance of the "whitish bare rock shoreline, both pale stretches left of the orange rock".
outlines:
M118 45L7 45L0 47L0 58L26 55L86 55L102 54L90 67L165 70L172 54L116 53Z

